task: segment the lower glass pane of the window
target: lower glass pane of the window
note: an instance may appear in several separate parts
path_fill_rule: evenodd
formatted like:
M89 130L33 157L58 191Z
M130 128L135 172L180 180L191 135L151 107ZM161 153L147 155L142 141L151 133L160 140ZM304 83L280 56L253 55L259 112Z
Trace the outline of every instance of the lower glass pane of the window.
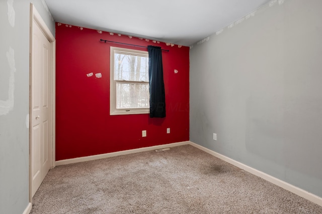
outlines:
M149 108L149 85L116 83L116 108Z

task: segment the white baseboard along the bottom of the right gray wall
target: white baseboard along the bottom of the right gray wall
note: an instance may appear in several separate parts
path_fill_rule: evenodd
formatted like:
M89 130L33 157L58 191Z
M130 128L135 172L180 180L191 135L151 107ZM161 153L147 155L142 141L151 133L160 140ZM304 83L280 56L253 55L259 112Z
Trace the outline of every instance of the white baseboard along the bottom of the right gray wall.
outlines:
M224 160L224 161L226 161L226 162L228 162L228 163L230 163L232 165L235 165L238 168L244 169L245 171L248 171L248 172L250 172L250 173L252 173L252 174L254 174L256 176L259 176L259 177L261 177L261 178L263 178L263 179L265 179L265 180L267 180L267 181L269 181L271 183L274 183L275 185L278 185L278 186L280 186L280 187L282 187L282 188L284 188L284 189L286 189L286 190L288 190L290 192L293 192L293 193L295 193L295 194L297 194L297 195L299 195L299 196L301 196L301 197L303 197L303 198L305 198L305 199L307 199L309 201L312 201L313 203L316 203L316 204L322 206L322 198L317 196L317 195L315 195L315 194L312 194L312 193L310 193L310 192L308 192L308 191L306 191L304 189L296 187L296 186L294 186L294 185L292 185L290 183L287 183L287 182L285 182L283 180L280 180L280 179L278 179L276 177L273 177L273 176L271 176L269 174L266 174L266 173L264 173L262 171L259 171L259 170L255 169L255 168L252 168L252 167L250 167L250 166L248 166L248 165L246 165L244 163L240 163L240 162L238 162L236 160L233 160L233 159L231 159L229 157L226 157L226 156L224 156L222 154L219 154L219 153L217 153L215 151L207 149L207 148L205 148L205 147L203 147L201 145L198 145L198 144L196 144L194 142L189 141L189 144L194 146L194 147L196 147L196 148L198 148L198 149L201 149L201 150L203 150L203 151L205 151L205 152L207 152L207 153L209 153L209 154L211 154L211 155L213 155L215 157L218 157L219 159L222 159L222 160Z

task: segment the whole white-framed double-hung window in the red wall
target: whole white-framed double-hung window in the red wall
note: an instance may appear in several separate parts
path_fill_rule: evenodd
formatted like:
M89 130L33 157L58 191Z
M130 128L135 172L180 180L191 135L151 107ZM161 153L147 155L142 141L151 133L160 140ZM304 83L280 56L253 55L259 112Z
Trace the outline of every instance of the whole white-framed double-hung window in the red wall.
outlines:
M110 115L149 113L148 53L111 47Z

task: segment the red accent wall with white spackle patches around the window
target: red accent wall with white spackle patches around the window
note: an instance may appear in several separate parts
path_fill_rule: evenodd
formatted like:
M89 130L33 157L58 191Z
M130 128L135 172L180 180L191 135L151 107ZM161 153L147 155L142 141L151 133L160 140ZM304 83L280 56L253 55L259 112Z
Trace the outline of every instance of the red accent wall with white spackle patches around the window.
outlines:
M170 50L163 52L166 118L110 116L110 46L146 49L100 39ZM94 75L87 77L91 72ZM102 73L102 78L96 78L96 73ZM147 131L146 137L142 130ZM56 23L56 160L187 140L189 47Z

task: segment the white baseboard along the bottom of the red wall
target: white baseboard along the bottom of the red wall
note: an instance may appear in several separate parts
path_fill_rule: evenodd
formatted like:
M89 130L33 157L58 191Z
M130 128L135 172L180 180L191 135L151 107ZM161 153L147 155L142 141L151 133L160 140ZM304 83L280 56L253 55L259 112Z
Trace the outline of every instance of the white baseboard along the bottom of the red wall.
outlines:
M149 146L149 147L143 147L143 148L138 148L138 149L130 149L130 150L125 150L125 151L105 153L105 154L91 155L91 156L86 156L86 157L70 158L70 159L55 161L55 165L59 166L59 165L65 165L65 164L70 164L70 163L78 163L78 162L84 162L84 161L89 161L89 160L97 160L97 159L102 159L102 158L107 158L107 157L115 157L115 156L119 156L119 155L132 154L132 153L162 149L162 148L167 148L167 147L175 147L175 146L181 146L181 145L186 145L186 144L189 144L189 141L163 144L163 145L157 145L157 146Z

